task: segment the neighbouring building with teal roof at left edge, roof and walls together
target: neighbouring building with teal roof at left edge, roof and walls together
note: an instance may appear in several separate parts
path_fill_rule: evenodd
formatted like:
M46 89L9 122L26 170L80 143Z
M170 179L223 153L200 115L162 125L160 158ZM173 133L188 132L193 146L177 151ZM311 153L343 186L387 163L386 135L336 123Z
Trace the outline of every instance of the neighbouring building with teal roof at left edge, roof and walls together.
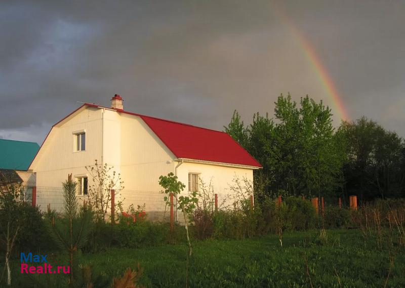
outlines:
M28 167L38 150L34 142L0 139L1 185L21 186L21 199L30 199L32 187L36 186L35 174Z

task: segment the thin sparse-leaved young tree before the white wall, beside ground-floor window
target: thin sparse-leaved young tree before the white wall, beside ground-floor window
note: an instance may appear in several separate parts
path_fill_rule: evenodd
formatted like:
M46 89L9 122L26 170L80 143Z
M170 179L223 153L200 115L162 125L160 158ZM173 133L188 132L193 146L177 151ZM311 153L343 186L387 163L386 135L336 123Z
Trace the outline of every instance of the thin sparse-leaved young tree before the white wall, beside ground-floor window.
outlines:
M115 189L115 195L124 189L124 181L121 175L113 171L112 166L107 163L104 166L98 164L97 159L93 166L86 166L90 174L92 183L89 185L89 201L95 210L96 217L105 221L106 214L111 205L111 190Z

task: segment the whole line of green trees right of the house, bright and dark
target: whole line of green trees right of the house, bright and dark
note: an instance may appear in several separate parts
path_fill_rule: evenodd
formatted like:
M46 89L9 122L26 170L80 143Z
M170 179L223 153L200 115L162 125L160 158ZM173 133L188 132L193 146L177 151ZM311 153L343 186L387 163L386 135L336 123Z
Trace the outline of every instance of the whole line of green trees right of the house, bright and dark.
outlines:
M235 110L225 132L254 156L260 200L265 196L343 197L360 201L405 196L405 142L365 116L333 127L322 101L280 95L273 117L245 125Z

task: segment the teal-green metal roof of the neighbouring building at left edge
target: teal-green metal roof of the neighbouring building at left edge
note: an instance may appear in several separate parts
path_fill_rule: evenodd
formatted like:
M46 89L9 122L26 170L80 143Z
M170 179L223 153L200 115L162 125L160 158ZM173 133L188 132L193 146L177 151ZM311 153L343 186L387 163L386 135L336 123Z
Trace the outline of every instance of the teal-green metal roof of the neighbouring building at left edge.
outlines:
M34 142L0 139L0 169L27 170L38 150Z

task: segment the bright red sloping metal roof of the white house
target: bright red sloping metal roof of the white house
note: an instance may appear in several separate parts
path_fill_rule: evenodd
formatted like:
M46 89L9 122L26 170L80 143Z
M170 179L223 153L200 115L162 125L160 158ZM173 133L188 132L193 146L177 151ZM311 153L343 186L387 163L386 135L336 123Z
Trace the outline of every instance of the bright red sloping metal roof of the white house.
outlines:
M225 132L139 116L178 158L262 167Z

